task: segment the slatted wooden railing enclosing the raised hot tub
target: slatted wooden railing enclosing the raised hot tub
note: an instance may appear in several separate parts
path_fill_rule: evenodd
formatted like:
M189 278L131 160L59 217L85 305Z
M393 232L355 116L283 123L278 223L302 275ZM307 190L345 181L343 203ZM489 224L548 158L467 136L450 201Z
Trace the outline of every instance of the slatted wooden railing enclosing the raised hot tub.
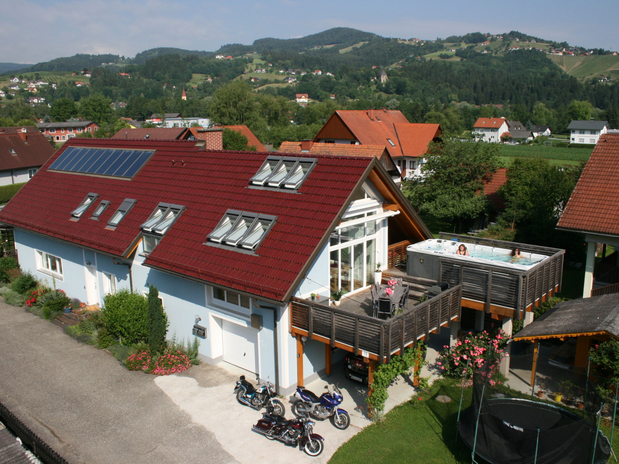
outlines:
M483 303L486 311L490 311L490 306L525 311L528 306L541 303L544 295L548 296L557 288L561 289L565 250L444 232L439 233L439 237L507 249L518 247L524 252L548 256L542 262L531 265L528 270L441 256L441 281L449 285L461 283L462 298Z

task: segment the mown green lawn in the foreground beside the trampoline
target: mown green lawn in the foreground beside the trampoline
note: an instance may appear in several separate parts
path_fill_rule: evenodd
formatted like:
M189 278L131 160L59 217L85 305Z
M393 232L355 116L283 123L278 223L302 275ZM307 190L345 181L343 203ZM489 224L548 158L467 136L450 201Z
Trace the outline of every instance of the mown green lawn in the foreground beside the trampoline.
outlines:
M462 410L470 405L472 388L464 390ZM454 380L435 382L430 392L387 413L382 423L372 424L339 447L329 464L464 464L470 463L470 449L456 441L456 419L461 389ZM436 395L448 395L450 403L439 403ZM513 395L508 395L513 396ZM518 395L525 397L525 395ZM529 398L527 396L527 398ZM602 425L610 440L610 423ZM619 453L618 427L613 449ZM612 458L611 458L612 459ZM485 463L477 458L480 464Z

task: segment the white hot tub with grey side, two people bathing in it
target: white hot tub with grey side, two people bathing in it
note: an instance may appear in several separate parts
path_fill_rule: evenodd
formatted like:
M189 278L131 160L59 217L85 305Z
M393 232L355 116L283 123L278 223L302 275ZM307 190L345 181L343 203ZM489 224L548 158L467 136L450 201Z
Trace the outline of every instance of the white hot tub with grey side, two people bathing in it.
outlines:
M469 256L456 254L458 246L464 244ZM438 262L440 257L449 257L480 264L506 267L509 269L528 270L534 264L542 262L548 256L521 252L522 258L511 256L511 249L489 245L464 243L449 239L429 239L407 247L407 274L417 277L438 279Z

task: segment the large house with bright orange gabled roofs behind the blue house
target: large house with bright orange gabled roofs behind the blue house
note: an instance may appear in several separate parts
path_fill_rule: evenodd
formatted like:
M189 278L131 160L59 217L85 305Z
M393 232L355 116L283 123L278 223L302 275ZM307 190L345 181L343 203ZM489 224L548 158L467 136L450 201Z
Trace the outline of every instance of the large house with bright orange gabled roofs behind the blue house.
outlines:
M318 131L322 144L385 147L402 177L421 175L428 144L441 137L440 124L413 124L399 110L335 111Z

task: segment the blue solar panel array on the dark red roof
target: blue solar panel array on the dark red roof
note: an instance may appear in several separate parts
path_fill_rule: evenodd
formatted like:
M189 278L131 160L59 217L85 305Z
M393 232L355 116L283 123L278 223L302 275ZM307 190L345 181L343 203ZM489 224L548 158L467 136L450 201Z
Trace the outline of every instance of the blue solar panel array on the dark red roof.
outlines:
M69 147L51 163L50 170L132 178L154 150Z

